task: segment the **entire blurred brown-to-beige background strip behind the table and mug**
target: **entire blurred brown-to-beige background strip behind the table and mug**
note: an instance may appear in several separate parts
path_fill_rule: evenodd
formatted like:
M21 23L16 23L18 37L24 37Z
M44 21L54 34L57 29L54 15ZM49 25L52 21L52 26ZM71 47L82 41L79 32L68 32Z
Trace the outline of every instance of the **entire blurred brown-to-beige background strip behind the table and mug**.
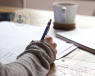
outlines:
M53 2L75 2L78 4L77 14L95 16L95 0L0 0L0 6L53 10Z

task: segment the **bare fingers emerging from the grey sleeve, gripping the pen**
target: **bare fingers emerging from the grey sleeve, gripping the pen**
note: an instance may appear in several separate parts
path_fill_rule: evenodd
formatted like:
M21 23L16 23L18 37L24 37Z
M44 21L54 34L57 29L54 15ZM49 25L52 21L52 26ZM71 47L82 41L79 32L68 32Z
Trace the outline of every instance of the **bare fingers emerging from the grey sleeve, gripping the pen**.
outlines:
M57 44L53 42L53 38L52 37L46 36L43 41L48 43L53 48L54 52L57 54L57 50L56 50Z

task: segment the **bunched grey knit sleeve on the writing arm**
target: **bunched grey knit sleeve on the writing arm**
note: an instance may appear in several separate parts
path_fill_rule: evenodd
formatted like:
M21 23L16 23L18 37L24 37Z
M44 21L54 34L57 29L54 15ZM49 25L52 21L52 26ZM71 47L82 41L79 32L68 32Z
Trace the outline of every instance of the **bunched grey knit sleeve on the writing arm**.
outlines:
M46 76L56 59L44 41L32 41L15 62L0 64L0 76Z

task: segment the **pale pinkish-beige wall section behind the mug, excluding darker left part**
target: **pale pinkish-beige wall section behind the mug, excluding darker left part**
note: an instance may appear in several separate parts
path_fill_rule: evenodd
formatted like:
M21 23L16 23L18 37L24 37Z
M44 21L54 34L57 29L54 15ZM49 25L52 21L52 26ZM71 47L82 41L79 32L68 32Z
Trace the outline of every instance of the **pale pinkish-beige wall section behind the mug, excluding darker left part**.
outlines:
M53 10L52 3L56 1L75 2L78 3L77 14L92 15L95 9L95 1L87 0L27 0L26 7L42 10Z

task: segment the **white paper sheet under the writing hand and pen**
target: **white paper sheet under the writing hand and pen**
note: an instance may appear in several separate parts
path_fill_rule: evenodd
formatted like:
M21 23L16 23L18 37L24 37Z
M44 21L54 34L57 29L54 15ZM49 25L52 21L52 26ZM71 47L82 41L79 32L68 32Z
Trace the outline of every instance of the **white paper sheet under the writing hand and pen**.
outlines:
M0 23L0 61L4 64L16 60L32 40L40 40L45 28L30 25L25 30L13 29L10 22ZM55 30L50 30L49 35L57 43L58 54L63 51L72 51L74 45L66 43L55 37ZM69 48L69 51L67 50ZM76 47L75 47L76 48ZM64 56L64 54L61 57ZM66 53L65 53L66 54Z

